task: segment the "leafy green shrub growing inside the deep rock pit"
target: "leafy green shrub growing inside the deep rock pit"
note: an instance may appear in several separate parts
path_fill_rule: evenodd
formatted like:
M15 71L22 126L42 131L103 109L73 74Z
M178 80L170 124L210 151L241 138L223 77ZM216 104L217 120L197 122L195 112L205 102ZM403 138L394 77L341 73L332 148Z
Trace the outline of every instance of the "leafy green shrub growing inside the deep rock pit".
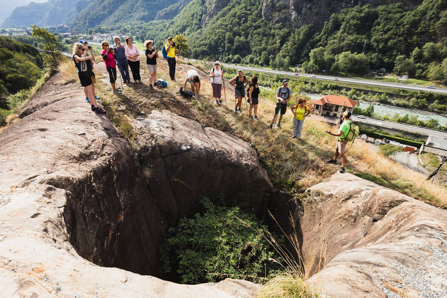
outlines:
M180 219L169 229L160 246L161 272L177 272L181 283L197 284L227 277L255 281L278 269L269 261L274 253L259 220L238 207L214 205L207 197L199 202L205 207L203 214Z

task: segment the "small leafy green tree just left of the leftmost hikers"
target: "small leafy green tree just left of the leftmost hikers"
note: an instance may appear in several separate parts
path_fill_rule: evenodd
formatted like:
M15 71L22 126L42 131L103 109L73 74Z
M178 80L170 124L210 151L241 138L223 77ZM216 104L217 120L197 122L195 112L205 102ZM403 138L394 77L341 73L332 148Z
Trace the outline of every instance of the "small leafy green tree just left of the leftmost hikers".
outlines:
M42 42L42 59L43 67L55 68L59 64L59 60L63 57L59 51L59 42L54 34L40 28L36 25L31 25L31 32L38 42Z

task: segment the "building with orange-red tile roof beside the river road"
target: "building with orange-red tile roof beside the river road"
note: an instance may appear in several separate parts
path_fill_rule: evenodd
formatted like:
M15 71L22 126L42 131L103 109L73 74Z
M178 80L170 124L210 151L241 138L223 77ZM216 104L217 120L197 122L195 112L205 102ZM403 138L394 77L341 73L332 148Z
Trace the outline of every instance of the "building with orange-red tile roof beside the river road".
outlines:
M312 100L313 113L320 116L340 117L343 107L345 111L352 113L357 101L353 101L348 97L337 95L325 95L317 100Z

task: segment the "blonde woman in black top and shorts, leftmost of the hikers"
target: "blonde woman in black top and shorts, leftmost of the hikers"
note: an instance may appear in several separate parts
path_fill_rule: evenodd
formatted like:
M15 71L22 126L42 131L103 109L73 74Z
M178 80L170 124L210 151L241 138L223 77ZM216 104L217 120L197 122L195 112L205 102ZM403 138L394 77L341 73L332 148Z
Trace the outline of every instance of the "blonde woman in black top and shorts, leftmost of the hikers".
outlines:
M73 45L73 61L78 70L78 76L81 86L87 88L87 94L90 98L92 111L97 114L105 113L105 110L98 106L95 99L95 74L92 70L92 56L83 56L85 47L82 43L76 42Z

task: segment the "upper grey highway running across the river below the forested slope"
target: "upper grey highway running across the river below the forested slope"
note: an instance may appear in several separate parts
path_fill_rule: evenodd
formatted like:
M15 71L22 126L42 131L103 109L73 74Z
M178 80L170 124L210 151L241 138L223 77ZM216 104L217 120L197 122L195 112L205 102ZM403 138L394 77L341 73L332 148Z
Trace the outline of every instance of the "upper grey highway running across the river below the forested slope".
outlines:
M392 82L377 82L377 81L373 81L373 80L352 79L352 78L345 78L345 77L341 77L341 76L312 75L312 74L302 73L302 72L271 70L271 69L265 69L265 68L238 66L238 65L232 65L232 64L222 64L222 65L224 67L231 67L231 68L237 68L237 69L248 70L248 71L265 72L265 73L279 74L279 75L284 75L284 76L309 77L312 79L329 80L329 81L333 81L335 83L336 82L346 82L346 83L364 84L364 85L381 86L381 87L389 87L389 88L410 89L410 90L424 91L424 92L447 93L447 88L440 88L440 87L429 88L428 86L424 86L424 85L413 85L413 84L392 83Z

